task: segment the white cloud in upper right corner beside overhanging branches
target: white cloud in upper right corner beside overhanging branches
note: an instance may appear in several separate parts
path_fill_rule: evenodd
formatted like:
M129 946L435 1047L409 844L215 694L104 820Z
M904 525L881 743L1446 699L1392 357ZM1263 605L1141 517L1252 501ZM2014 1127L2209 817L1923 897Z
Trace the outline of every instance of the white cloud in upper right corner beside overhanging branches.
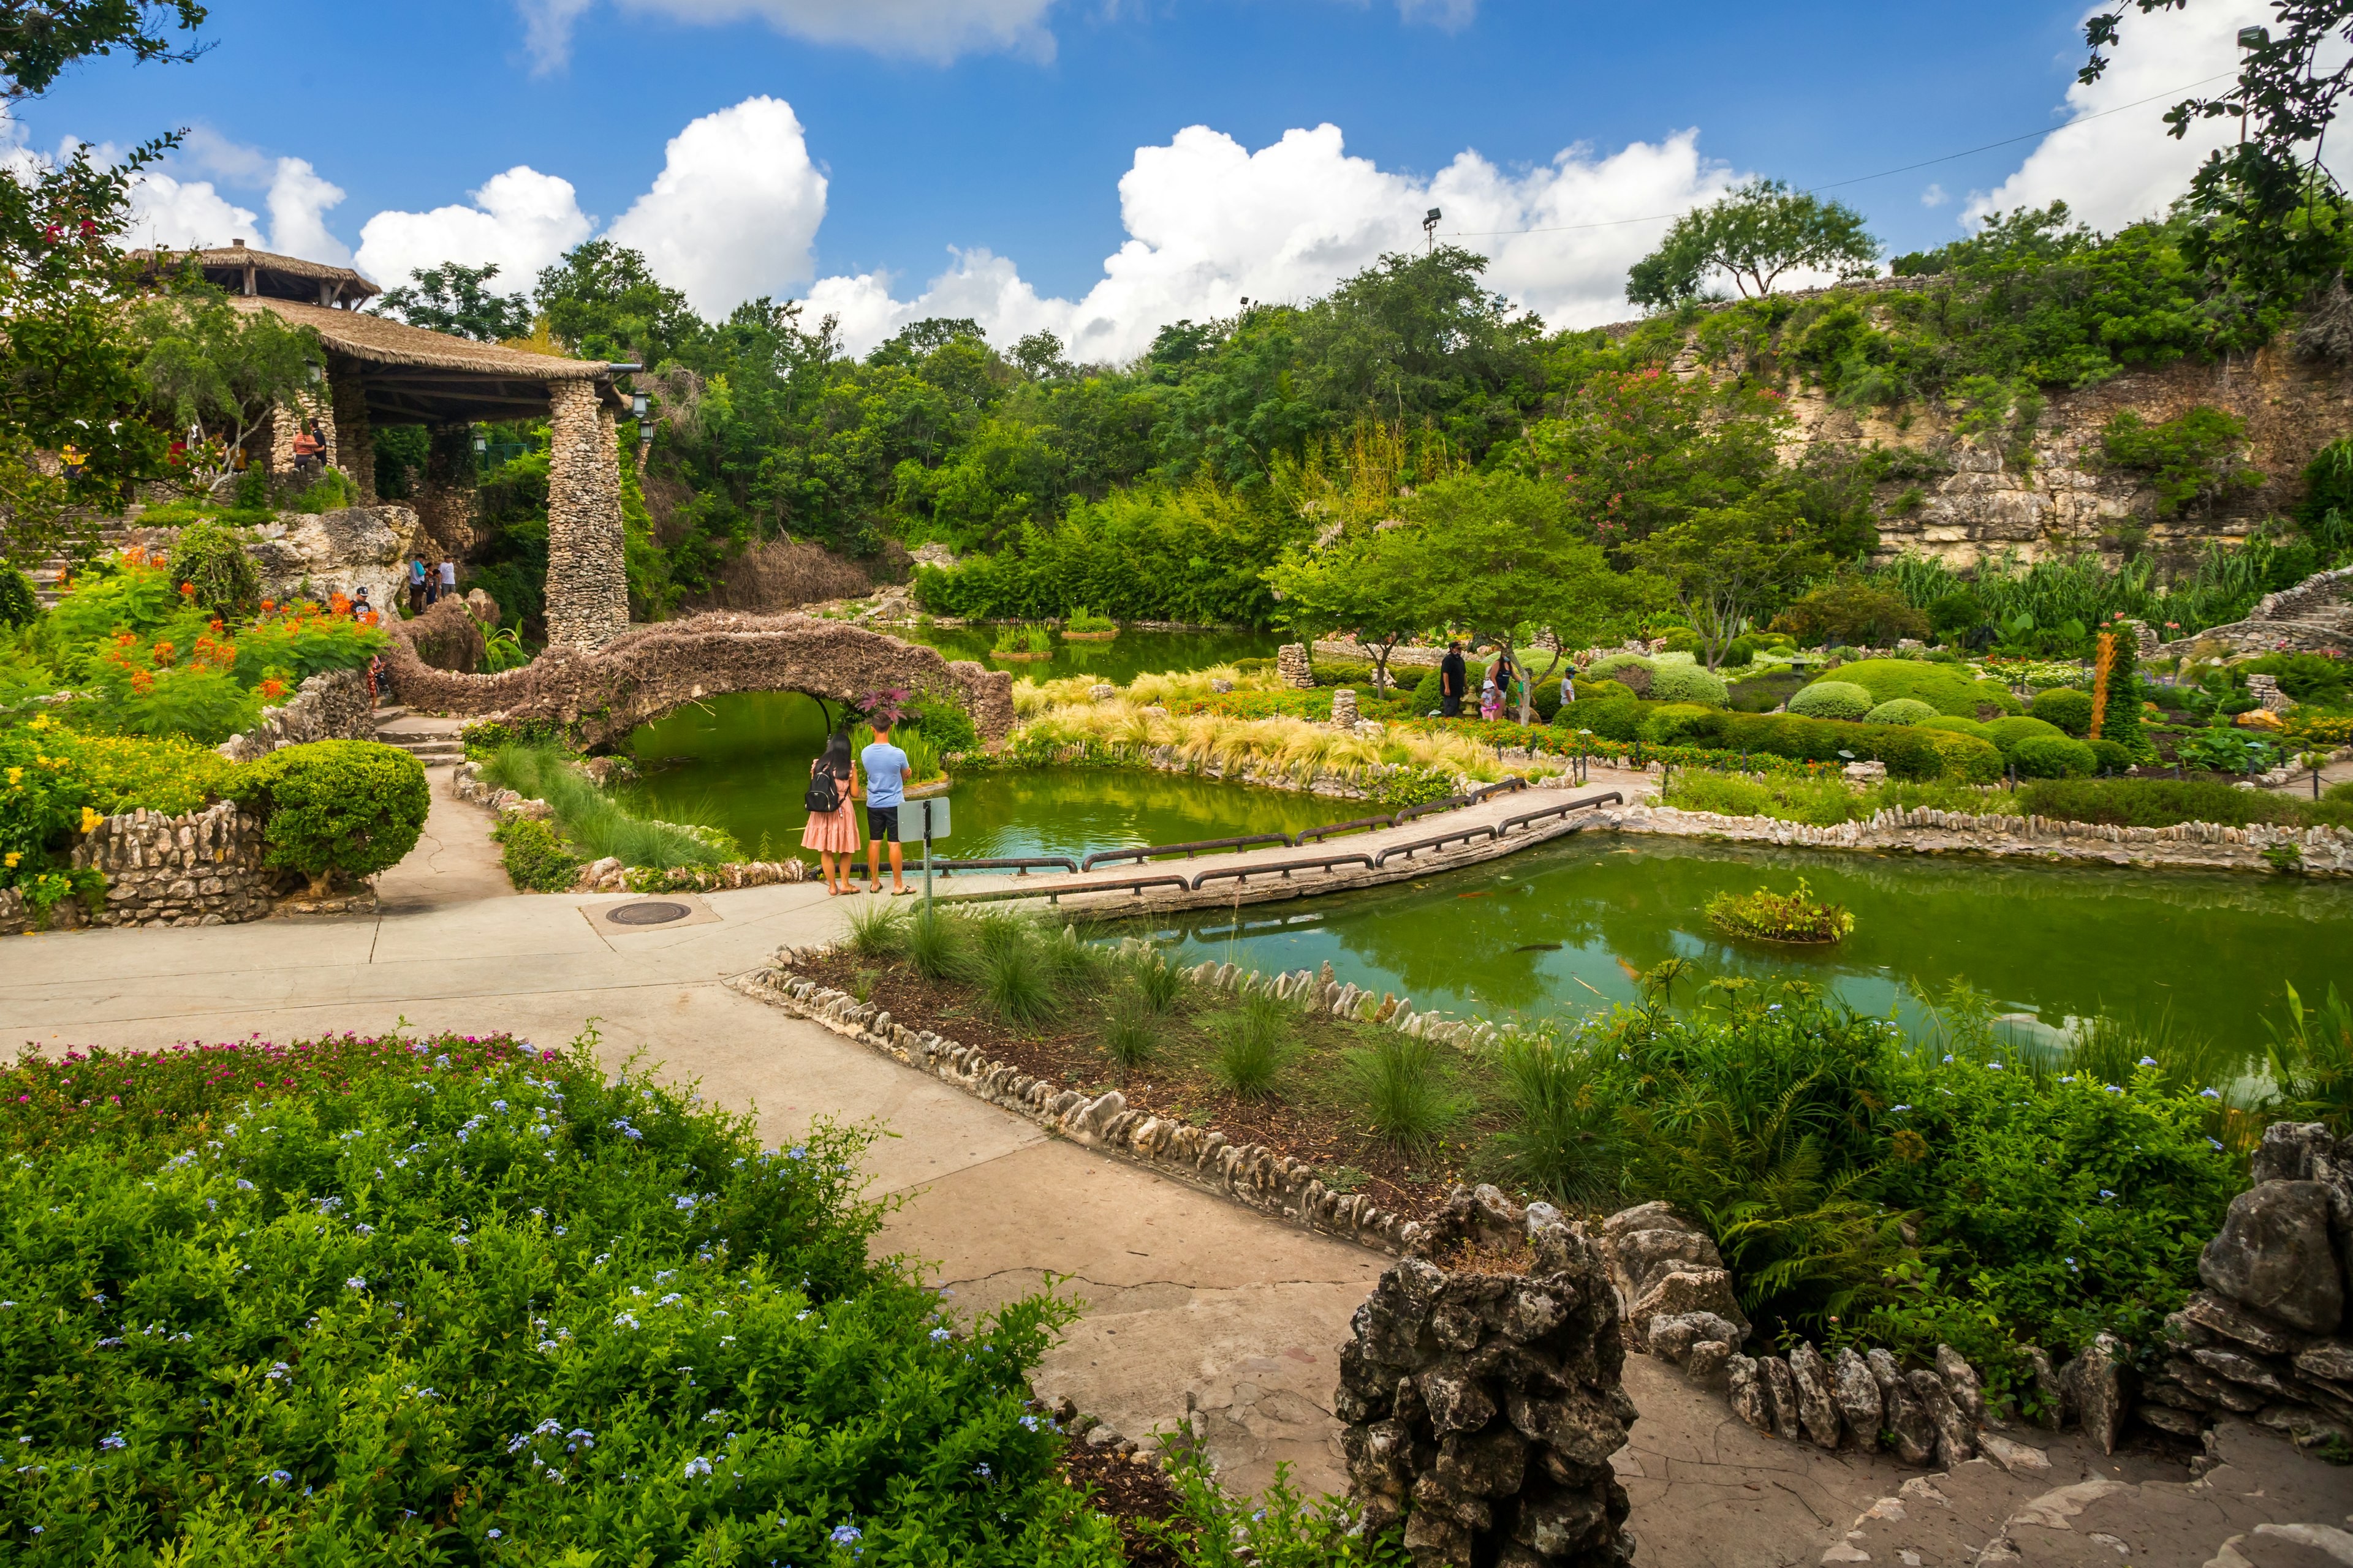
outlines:
M2085 16L2106 9L2113 7L2097 5ZM2089 87L2068 87L2071 120L2035 143L2017 174L1972 195L1962 219L2054 200L2064 200L2092 228L2111 233L2162 216L2188 190L2191 174L2207 153L2238 136L2235 120L2193 120L2188 136L2174 141L2165 129L2165 110L2191 96L2186 89L2193 82L2205 82L2198 96L2226 89L2228 80L2205 78L2235 73L2238 31L2271 19L2268 0L2212 0L2153 16L2127 12L2108 71ZM2155 103L2125 108L2139 99Z

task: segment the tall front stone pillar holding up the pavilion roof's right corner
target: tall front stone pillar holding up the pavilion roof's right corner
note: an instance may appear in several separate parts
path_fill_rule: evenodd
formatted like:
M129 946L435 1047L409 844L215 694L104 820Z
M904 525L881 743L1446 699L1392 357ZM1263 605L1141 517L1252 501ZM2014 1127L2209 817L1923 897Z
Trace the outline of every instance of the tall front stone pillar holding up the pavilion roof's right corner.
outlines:
M593 381L548 383L548 644L602 646L628 628L621 458Z

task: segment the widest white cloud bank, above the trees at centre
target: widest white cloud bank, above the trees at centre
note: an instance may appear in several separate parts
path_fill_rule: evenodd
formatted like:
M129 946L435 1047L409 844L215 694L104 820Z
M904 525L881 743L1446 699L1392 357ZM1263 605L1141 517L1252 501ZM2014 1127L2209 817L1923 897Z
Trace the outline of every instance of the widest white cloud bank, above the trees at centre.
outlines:
M1129 240L1085 299L1040 299L1012 261L953 252L953 266L913 299L894 299L889 277L868 273L821 280L809 308L835 313L854 350L913 320L969 315L1000 346L1054 331L1078 360L1118 362L1176 320L1231 315L1242 299L1325 294L1384 252L1417 249L1424 214L1440 207L1440 233L1489 259L1494 289L1553 324L1598 324L1631 313L1626 268L1666 228L1652 219L1729 183L1727 169L1699 158L1697 132L1607 158L1567 148L1522 172L1461 153L1421 181L1351 158L1334 125L1292 129L1257 153L1195 125L1167 146L1136 148L1120 179Z

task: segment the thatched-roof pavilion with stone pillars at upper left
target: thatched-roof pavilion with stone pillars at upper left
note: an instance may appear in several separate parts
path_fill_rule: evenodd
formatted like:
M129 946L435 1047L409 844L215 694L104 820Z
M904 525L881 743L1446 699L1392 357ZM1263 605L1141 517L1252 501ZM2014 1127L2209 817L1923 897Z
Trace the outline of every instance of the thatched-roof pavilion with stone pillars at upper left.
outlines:
M238 240L195 252L132 252L151 277L193 261L240 310L268 310L318 334L322 397L280 407L268 454L294 468L308 423L362 503L376 498L376 425L426 425L416 515L449 555L473 543L473 423L548 421L548 639L595 646L628 625L621 567L621 468L614 416L628 397L602 360L569 360L407 327L351 306L379 294L351 268L256 252Z

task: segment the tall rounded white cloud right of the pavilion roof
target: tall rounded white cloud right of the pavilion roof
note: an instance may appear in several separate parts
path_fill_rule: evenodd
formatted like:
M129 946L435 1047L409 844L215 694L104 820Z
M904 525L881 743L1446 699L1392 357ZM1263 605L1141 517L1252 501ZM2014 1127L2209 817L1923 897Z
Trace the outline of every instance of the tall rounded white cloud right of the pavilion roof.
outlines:
M784 99L744 99L671 136L654 188L614 219L612 240L704 315L809 280L826 176Z

